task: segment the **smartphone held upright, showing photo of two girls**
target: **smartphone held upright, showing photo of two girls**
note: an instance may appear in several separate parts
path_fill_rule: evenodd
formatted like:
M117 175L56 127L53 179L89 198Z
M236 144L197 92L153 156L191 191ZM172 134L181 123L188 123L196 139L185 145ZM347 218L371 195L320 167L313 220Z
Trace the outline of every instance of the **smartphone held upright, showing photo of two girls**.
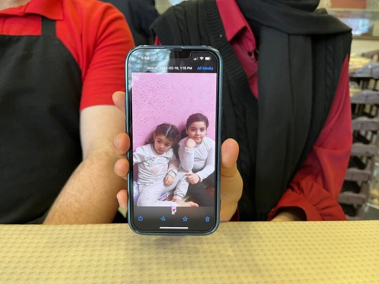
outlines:
M138 234L213 233L220 217L222 57L205 46L128 53L128 222Z

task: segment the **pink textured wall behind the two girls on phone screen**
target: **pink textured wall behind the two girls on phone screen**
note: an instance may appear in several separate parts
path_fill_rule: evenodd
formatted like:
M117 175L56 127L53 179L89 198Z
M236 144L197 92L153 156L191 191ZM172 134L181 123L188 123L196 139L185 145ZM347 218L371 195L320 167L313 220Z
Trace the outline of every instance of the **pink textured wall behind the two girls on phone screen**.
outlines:
M194 113L208 117L207 136L215 140L217 74L132 73L132 92L133 150L161 123L182 131Z

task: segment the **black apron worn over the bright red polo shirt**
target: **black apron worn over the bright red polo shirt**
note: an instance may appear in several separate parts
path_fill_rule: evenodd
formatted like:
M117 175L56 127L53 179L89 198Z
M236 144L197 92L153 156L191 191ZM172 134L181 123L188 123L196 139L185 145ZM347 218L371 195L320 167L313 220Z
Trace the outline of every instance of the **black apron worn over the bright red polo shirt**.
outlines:
M40 223L82 161L81 70L42 17L42 35L0 35L0 223Z

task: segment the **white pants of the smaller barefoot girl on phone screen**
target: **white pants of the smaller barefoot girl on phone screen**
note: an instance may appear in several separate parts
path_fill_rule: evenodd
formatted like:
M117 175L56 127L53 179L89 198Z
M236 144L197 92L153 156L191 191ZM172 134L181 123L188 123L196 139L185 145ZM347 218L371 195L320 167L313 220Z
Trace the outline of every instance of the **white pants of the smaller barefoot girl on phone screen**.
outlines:
M183 169L179 170L172 185L164 184L164 178L154 184L140 184L139 197L137 206L178 206L173 201L159 201L158 198L175 188L175 199L182 199L186 196L188 190L187 172Z

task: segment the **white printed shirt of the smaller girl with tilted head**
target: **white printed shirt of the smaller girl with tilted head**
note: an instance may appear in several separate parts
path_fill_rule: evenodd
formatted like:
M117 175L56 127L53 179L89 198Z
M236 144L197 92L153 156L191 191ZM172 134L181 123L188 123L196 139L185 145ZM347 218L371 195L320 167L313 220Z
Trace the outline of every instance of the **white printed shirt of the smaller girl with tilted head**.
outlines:
M175 178L178 173L175 159L172 148L158 154L151 144L138 147L133 153L133 165L138 164L138 184L155 183L167 174Z

